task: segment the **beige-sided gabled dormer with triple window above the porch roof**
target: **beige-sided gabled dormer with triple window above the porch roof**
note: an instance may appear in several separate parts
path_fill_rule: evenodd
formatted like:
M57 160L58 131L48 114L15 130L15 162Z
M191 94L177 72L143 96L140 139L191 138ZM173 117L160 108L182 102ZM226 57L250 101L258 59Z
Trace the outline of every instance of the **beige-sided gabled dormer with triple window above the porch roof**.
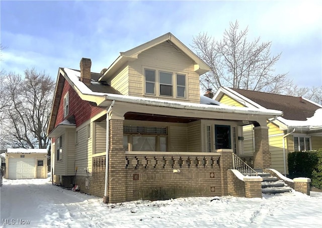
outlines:
M121 52L99 80L123 95L199 103L199 76L209 70L196 54L167 33Z

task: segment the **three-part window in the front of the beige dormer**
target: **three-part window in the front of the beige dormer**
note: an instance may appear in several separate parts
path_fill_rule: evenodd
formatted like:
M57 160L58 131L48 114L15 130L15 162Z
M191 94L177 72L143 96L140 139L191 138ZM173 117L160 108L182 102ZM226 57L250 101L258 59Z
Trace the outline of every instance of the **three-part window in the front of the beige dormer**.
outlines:
M158 75L158 77L156 77ZM175 77L174 77L175 75ZM145 94L186 98L186 74L144 69Z

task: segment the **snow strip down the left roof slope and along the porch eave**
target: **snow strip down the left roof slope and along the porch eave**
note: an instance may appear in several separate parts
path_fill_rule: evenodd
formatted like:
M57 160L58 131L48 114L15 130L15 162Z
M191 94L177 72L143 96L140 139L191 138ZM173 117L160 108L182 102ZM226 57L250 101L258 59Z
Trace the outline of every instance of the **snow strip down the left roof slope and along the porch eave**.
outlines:
M139 103L144 105L151 106L163 106L163 107L173 107L173 108L182 108L182 109L193 109L193 110L208 110L208 111L220 111L226 113L241 113L241 114L251 114L251 115L265 115L265 116L281 116L282 111L273 110L273 109L260 109L260 108L249 108L249 107L233 107L227 105L213 105L213 104L199 104L191 102L182 102L182 101L173 101L173 100L162 100L146 97L136 97L112 93L102 93L102 92L93 92L90 88L86 86L83 82L79 80L81 73L76 70L69 68L63 68L66 73L66 76L71 81L71 83L82 93L86 95L93 96L103 96L104 100L117 100L129 103ZM213 103L216 101L213 100ZM98 103L102 105L102 103ZM102 105L104 106L104 105Z

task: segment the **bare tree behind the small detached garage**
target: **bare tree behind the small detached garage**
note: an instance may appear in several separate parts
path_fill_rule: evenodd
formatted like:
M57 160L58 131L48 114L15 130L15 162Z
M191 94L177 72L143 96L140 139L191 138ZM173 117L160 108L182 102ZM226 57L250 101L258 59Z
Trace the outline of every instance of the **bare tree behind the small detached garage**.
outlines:
M10 147L47 148L46 128L55 87L54 80L44 72L27 69L24 77L6 74L10 105L3 126L3 142Z

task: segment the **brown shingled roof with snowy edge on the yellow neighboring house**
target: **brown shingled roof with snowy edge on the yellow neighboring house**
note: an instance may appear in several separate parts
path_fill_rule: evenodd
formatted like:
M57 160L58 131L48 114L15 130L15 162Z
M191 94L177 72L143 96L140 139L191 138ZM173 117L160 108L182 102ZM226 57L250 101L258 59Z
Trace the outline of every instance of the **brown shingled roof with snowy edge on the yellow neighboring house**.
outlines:
M302 97L221 87L221 91L223 90L233 94L233 98L248 107L281 110L283 118L286 120L306 121L307 118L314 115L318 108L322 107L322 105ZM220 99L219 93L216 93L215 97L216 100Z

